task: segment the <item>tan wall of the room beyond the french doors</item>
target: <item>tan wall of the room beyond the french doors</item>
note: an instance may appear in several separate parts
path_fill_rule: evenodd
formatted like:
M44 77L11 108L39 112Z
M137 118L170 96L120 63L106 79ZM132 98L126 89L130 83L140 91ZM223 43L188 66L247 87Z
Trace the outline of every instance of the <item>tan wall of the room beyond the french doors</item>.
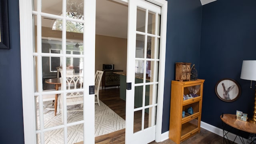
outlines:
M42 36L62 38L62 31L42 27ZM83 34L67 32L67 39L83 40ZM95 72L102 64L114 64L115 69L126 71L127 39L111 36L95 36Z

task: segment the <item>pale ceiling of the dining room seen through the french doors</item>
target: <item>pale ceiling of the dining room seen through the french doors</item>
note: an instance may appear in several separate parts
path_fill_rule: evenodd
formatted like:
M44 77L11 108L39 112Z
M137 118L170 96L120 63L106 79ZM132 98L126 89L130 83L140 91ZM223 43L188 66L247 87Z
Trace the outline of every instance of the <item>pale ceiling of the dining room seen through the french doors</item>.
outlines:
M42 0L42 12L61 15L62 0ZM44 19L42 26L52 27L54 22L55 19ZM113 0L96 0L96 34L127 38L127 23L128 6Z

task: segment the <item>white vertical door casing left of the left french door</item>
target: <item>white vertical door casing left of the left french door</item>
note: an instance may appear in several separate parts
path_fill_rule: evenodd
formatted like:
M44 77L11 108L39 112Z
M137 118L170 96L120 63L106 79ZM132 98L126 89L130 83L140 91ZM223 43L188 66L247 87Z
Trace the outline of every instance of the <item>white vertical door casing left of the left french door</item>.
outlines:
M21 79L22 79L22 105L24 124L24 143L36 144L36 122L33 106L33 81L32 77L32 0L20 1L20 59L21 59ZM26 47L29 48L28 51ZM25 67L26 66L26 67ZM28 76L25 76L28 75ZM26 79L26 80L25 80ZM26 86L26 87L25 87Z

